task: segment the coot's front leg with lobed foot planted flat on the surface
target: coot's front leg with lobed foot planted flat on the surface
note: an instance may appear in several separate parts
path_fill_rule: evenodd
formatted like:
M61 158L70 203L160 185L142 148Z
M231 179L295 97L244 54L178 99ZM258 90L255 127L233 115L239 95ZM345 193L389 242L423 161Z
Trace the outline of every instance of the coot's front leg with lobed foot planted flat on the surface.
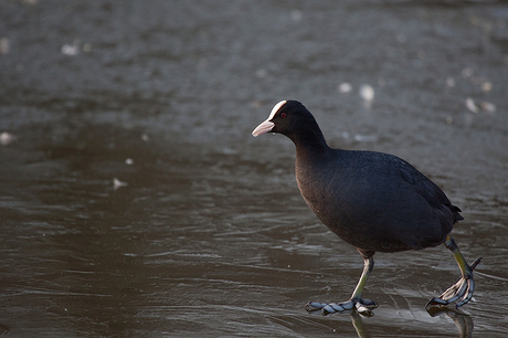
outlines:
M374 267L374 258L372 256L364 256L364 264L363 264L363 272L361 273L360 281L358 281L357 287L354 288L354 292L351 295L351 298L348 302L345 303L318 303L318 302L309 302L305 306L305 309L308 311L314 311L314 310L321 310L322 315L328 315L328 314L334 314L338 311L343 311L343 310L350 310L352 308L356 308L358 313L366 315L366 316L371 316L371 308L377 308L378 303L370 300L370 299L363 299L361 298L361 293L363 292L363 288L366 287L367 279L369 278L370 273L372 272L372 268Z

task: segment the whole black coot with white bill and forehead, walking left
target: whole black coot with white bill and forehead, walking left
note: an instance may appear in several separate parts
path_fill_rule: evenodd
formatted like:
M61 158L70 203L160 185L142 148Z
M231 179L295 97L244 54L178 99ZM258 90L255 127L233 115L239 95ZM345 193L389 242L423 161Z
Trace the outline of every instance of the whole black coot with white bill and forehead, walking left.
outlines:
M356 308L371 314L378 307L361 297L379 252L421 250L445 244L457 261L462 278L431 306L455 304L473 297L473 270L449 236L463 220L461 209L445 193L405 160L377 151L353 151L328 147L309 110L297 101L277 103L268 118L252 135L279 133L296 146L296 181L304 200L318 219L345 242L354 246L364 267L351 298L345 303L309 302L306 309L324 315Z

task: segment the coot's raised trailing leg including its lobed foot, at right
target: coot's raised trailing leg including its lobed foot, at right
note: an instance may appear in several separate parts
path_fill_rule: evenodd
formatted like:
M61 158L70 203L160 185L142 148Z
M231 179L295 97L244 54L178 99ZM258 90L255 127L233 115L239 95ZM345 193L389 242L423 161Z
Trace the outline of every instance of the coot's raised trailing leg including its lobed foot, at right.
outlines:
M457 261L458 267L461 268L462 278L457 283L452 285L447 291L445 291L440 297L434 297L428 300L426 307L430 306L446 306L451 303L455 303L455 307L463 306L473 297L473 292L475 291L475 281L473 281L473 270L481 261L481 257L473 262L472 265L468 265L461 251L458 250L457 244L451 237L446 237L445 245L449 249Z

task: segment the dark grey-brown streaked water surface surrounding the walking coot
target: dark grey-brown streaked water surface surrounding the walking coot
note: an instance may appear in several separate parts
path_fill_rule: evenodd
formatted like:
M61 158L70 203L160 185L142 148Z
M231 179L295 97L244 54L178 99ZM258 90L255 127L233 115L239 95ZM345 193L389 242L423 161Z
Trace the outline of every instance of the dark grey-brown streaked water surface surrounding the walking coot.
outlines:
M507 88L502 2L0 1L0 334L506 337ZM459 277L444 246L377 254L371 318L304 310L362 260L289 140L251 136L285 98L463 209L462 313L424 309Z

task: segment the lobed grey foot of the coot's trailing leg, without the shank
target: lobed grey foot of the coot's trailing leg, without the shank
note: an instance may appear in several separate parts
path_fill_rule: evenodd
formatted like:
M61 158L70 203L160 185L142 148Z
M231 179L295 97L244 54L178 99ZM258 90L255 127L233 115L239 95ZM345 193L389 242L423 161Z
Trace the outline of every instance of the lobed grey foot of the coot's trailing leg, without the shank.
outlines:
M431 306L447 306L452 303L455 303L455 307L461 307L464 304L468 303L473 297L475 292L475 281L473 279L473 270L478 265L481 258L476 260L470 266L468 266L467 272L463 275L457 283L452 285L447 291L445 291L440 297L434 297L426 304L425 307Z

